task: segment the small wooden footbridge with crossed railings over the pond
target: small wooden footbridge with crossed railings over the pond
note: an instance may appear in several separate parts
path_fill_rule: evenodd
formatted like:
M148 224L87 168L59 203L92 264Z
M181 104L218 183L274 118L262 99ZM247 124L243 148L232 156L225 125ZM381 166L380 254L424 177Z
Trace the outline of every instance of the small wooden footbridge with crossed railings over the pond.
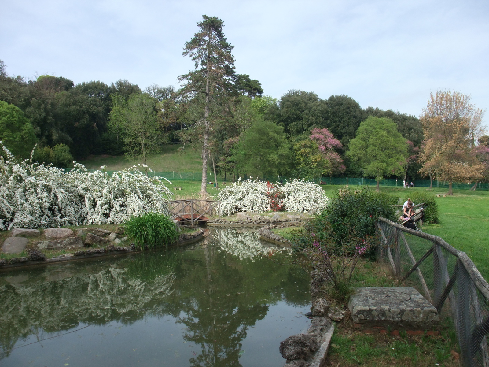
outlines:
M167 205L171 219L176 219L181 224L191 224L193 226L211 219L221 218L220 201L187 199L175 200Z

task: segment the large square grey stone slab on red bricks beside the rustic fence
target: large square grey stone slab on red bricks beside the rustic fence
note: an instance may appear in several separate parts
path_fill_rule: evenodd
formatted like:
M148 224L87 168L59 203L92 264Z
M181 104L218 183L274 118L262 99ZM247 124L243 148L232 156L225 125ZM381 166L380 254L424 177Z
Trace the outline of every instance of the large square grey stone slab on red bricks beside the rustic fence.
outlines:
M439 321L436 308L413 287L361 287L348 308L355 323L425 330Z

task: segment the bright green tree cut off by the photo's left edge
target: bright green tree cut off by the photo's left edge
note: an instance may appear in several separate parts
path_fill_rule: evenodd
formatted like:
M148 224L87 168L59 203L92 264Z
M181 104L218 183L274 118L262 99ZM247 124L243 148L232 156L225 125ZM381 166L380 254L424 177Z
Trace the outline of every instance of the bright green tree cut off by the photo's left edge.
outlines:
M36 144L34 129L20 108L0 101L0 140L15 155L28 158Z

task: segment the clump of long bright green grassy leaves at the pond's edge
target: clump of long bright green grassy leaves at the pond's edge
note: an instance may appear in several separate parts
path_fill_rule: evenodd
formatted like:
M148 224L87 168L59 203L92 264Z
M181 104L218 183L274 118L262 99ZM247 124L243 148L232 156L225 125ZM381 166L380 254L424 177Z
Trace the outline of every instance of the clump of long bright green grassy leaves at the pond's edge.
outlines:
M147 213L132 217L124 225L125 233L137 249L148 247L154 249L166 246L178 240L175 223L167 216L158 213Z

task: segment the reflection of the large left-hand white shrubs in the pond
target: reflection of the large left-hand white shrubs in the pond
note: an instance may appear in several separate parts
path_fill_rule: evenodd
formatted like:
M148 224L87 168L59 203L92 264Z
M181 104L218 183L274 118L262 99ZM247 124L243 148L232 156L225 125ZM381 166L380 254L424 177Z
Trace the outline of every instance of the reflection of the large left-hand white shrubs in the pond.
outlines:
M104 264L104 266L106 266ZM0 286L0 358L19 338L42 330L60 331L79 322L131 322L160 313L160 303L173 293L174 272L143 280L111 266L95 274L71 274L47 268L42 280ZM72 270L71 270L72 271ZM8 352L7 352L8 353Z

